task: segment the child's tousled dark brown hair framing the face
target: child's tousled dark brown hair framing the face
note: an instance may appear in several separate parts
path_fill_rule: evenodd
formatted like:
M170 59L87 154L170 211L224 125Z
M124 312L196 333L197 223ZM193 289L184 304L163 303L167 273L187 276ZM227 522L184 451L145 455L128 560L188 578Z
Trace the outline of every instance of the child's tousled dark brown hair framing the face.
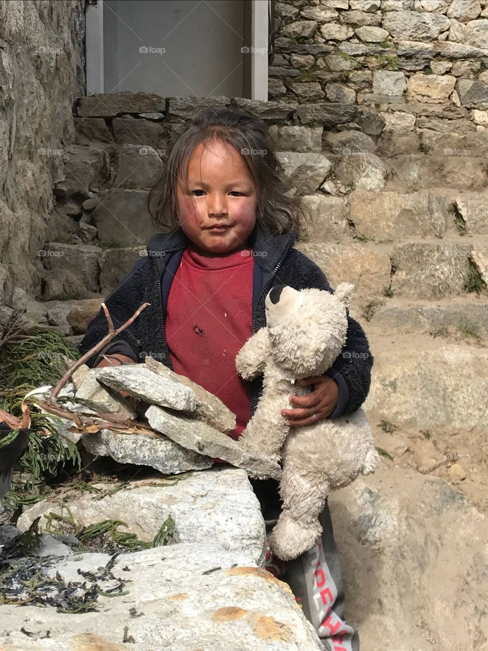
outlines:
M285 195L288 187L280 176L283 169L267 126L243 112L206 107L196 109L189 119L187 129L165 161L163 175L149 193L148 210L156 228L166 232L180 225L176 182L180 180L187 186L188 162L193 151L200 143L205 145L212 140L222 141L241 154L256 187L256 220L262 229L271 235L293 230L301 234L305 215L297 199Z

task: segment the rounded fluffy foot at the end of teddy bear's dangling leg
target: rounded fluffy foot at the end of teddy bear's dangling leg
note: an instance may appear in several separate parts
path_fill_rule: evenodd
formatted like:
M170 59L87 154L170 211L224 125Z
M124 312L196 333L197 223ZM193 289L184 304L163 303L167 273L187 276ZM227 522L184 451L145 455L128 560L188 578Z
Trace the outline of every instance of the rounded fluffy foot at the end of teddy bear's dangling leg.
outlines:
M304 523L282 512L271 534L270 546L278 558L292 561L312 549L321 533L322 527L318 520Z

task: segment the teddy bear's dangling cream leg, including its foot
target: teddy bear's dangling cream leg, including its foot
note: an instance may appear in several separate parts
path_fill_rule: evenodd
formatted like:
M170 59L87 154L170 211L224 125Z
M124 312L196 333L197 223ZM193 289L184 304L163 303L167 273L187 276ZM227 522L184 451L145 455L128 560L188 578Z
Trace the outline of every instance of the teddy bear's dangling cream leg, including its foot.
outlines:
M329 494L326 480L299 474L290 465L285 460L280 482L283 508L270 541L271 549L283 561L314 546L322 533L318 518Z

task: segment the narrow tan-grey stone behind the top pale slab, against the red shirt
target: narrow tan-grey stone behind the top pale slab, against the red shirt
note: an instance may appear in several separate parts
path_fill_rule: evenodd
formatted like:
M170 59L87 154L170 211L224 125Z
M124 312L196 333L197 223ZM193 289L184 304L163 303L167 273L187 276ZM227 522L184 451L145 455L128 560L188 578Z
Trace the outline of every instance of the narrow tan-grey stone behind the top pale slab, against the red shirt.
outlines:
M192 414L194 418L206 422L219 432L224 432L224 434L232 432L236 428L236 415L213 393L206 391L206 389L184 375L175 373L154 359L154 357L146 357L145 364L152 372L163 378L182 383L195 393L195 410Z

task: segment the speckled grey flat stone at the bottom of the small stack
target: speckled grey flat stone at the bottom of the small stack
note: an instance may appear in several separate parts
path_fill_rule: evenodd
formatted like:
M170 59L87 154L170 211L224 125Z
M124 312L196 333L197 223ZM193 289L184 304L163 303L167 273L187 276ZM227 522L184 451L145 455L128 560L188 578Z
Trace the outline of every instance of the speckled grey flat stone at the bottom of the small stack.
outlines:
M202 470L213 464L210 457L184 448L166 436L100 430L96 434L83 434L81 442L90 454L111 456L119 464L148 465L165 475Z

